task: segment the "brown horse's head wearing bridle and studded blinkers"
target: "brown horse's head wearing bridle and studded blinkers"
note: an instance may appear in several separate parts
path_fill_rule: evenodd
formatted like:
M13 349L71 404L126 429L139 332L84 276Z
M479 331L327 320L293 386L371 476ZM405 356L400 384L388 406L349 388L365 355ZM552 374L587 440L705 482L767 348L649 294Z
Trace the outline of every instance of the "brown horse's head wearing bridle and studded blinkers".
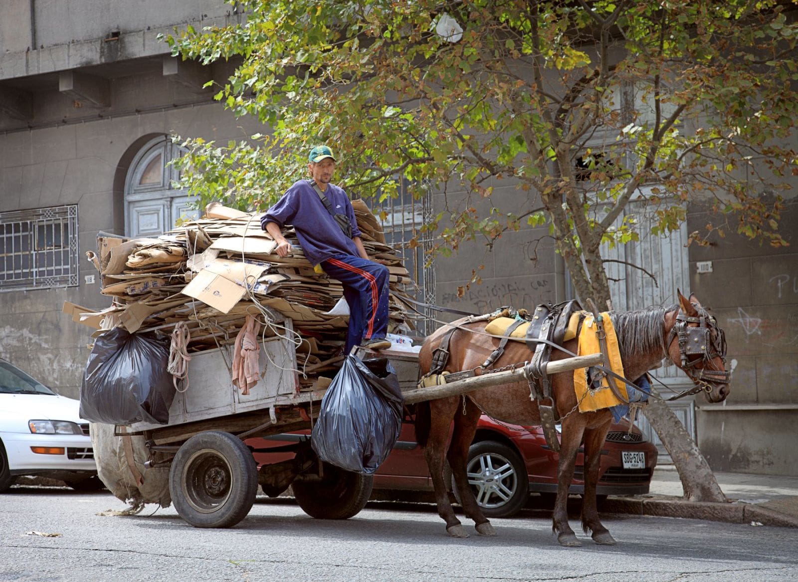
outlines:
M679 309L671 312L672 325L666 341L671 361L693 380L709 402L723 402L729 395L730 372L725 370L726 339L717 321L694 294L679 295Z

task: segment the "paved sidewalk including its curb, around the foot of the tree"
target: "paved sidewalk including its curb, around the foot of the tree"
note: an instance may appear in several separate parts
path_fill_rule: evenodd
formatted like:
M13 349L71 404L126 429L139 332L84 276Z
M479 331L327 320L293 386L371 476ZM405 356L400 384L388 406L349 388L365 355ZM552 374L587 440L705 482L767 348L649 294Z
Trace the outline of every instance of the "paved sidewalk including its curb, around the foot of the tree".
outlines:
M798 528L798 477L715 473L728 503L687 501L674 465L654 469L648 495L609 497L602 512Z

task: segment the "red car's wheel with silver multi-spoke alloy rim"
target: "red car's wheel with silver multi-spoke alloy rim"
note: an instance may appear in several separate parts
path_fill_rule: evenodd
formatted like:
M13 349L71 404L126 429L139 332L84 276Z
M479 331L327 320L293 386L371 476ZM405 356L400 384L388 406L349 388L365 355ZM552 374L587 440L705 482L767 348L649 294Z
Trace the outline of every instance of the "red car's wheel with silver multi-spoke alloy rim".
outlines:
M487 517L510 517L526 505L529 498L529 476L523 460L504 443L481 441L468 449L466 465L468 483L477 505ZM457 501L460 493L452 479Z

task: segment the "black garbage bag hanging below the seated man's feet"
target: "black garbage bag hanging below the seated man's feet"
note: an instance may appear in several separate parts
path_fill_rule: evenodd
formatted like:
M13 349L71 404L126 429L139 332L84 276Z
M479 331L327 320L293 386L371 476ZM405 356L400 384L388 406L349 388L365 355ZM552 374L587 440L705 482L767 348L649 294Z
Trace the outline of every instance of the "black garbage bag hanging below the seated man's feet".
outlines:
M370 475L399 438L403 404L387 358L347 355L324 394L310 444L322 461Z

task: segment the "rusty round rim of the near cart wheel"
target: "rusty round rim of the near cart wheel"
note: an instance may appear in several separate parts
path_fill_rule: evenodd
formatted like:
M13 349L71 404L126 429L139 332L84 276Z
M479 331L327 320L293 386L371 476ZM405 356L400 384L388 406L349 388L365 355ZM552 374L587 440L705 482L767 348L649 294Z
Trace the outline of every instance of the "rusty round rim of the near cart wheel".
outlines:
M213 513L230 498L233 472L215 450L202 449L188 458L180 482L188 505L199 513Z

